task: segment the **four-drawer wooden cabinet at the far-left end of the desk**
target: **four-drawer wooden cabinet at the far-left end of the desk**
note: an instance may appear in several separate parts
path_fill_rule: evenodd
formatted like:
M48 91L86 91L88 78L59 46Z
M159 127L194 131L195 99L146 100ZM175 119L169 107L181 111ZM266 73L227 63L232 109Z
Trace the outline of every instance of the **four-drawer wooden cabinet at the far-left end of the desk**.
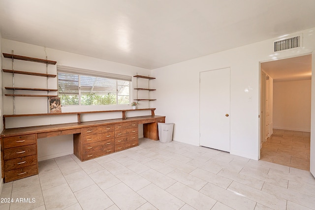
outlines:
M5 182L38 174L35 134L4 137L2 147Z

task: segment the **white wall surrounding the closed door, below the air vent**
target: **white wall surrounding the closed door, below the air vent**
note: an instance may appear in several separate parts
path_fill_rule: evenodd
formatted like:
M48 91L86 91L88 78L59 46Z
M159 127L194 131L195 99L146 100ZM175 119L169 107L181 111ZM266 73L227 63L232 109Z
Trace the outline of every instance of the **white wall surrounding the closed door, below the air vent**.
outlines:
M199 145L199 72L231 68L230 153L252 159L259 151L259 62L309 54L315 49L315 29L304 34L302 49L275 54L273 40L234 48L153 70L156 114L174 122L174 140ZM248 91L245 91L248 90ZM249 102L252 96L252 102ZM215 119L209 119L215 120Z

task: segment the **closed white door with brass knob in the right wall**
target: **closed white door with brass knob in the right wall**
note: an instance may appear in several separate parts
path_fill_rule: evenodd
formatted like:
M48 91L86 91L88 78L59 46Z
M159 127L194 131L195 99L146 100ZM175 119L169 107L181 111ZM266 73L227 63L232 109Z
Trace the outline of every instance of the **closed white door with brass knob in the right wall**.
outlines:
M230 68L200 72L200 146L230 151Z

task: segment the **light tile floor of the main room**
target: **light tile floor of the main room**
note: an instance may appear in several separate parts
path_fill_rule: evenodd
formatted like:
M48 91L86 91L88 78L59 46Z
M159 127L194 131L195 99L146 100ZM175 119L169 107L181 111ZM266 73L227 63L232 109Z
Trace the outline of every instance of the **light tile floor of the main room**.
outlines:
M39 162L39 175L3 185L1 210L310 210L310 172L195 147L139 146L80 162ZM16 199L21 202L17 202Z

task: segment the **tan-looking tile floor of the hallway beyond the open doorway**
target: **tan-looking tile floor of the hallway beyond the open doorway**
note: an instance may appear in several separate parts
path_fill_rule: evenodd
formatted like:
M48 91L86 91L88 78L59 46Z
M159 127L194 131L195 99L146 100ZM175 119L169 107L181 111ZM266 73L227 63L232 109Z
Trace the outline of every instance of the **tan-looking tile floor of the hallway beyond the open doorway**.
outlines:
M260 159L310 171L310 136L309 132L273 129L262 145Z

